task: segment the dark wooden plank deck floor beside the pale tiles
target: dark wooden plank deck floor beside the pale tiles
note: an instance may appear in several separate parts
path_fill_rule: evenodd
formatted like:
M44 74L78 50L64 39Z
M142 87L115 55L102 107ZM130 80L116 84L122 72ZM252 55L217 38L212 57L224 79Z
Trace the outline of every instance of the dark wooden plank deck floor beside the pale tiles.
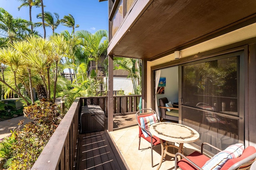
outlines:
M121 129L136 124L135 114L114 116L114 129ZM129 169L106 131L108 127L107 118L105 118L104 127L105 131L80 134L76 170Z

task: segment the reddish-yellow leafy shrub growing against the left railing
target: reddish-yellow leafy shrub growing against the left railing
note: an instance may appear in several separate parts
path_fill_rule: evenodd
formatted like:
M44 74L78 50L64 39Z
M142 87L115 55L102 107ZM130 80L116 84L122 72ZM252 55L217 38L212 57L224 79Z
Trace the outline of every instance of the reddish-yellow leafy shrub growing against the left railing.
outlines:
M18 131L12 133L15 142L8 148L10 153L5 155L5 168L27 170L33 166L64 116L57 113L54 107L52 102L24 107L24 115L34 121L27 123L20 131L21 121Z

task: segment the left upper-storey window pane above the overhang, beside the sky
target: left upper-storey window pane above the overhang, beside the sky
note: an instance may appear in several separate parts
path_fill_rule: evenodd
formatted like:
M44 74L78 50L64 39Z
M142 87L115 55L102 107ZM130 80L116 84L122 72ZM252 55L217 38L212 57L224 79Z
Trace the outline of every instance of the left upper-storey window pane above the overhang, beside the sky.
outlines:
M116 13L112 19L112 36L115 35L116 31L120 27L122 21L124 20L124 2L120 0Z

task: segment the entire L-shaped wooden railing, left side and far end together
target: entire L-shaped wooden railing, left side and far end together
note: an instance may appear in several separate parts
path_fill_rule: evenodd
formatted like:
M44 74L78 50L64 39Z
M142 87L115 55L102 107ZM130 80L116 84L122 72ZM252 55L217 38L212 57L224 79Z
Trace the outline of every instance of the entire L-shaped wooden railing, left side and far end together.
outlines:
M115 113L138 111L140 96L114 96ZM80 108L90 104L99 105L108 114L108 96L76 98L31 170L75 169Z

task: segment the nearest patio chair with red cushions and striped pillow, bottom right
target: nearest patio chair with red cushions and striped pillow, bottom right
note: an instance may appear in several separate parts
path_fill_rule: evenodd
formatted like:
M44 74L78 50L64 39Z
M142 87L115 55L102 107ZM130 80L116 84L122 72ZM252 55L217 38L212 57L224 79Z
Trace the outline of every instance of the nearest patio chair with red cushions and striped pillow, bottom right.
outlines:
M218 152L212 158L209 158L203 154L204 145L208 145L220 152ZM221 151L208 143L202 143L201 153L195 151L188 156L184 156L182 153L176 153L174 170L177 170L178 167L182 170L203 170L203 168L204 170L211 169L206 167L209 164L211 166L218 167L220 170L249 170L250 166L256 159L256 149L252 146L244 149L243 145L242 147L239 147L239 145L242 144L231 145L227 149ZM233 150L234 152L230 152L230 150ZM177 156L182 156L183 158L178 161Z

